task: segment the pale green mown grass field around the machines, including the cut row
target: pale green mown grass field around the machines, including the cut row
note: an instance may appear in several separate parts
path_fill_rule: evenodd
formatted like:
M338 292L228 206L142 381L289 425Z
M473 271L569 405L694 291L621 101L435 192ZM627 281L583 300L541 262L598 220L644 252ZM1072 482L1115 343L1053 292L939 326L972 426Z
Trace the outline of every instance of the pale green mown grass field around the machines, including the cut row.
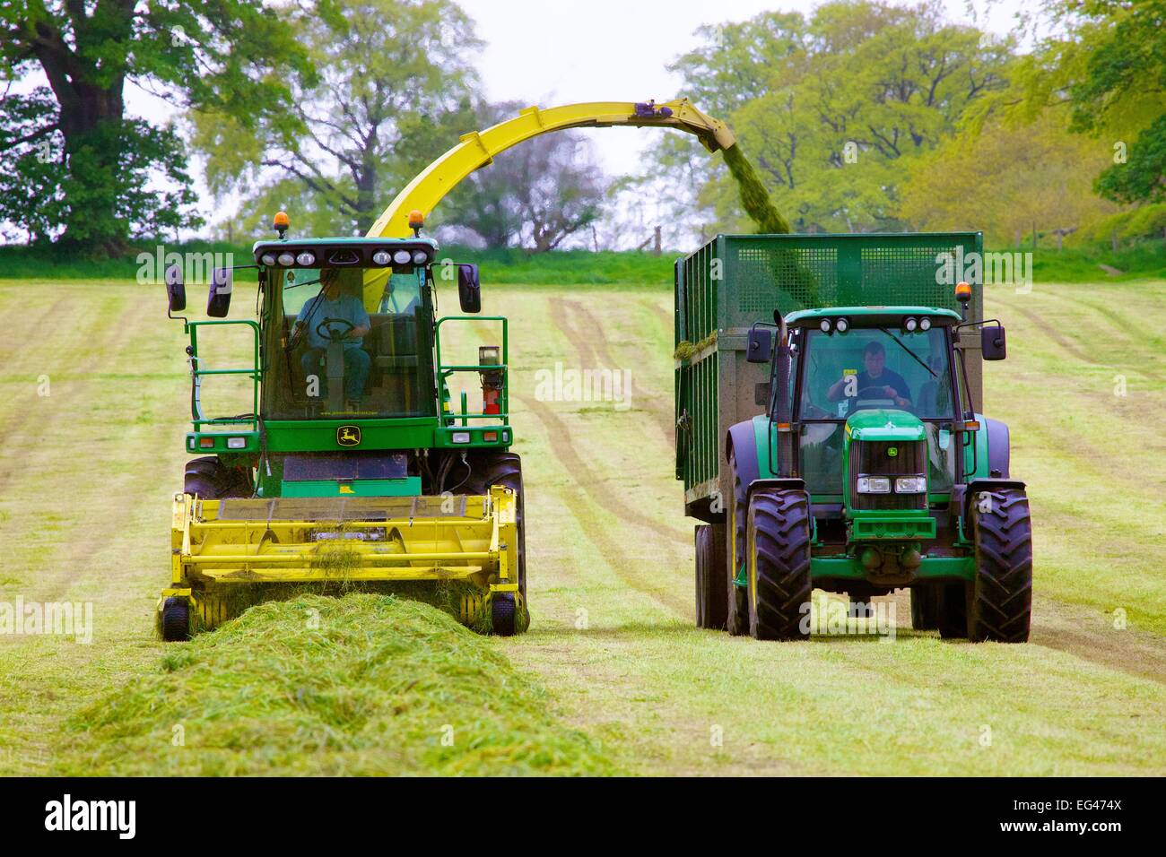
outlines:
M695 628L670 290L491 279L529 633L357 597L317 605L322 632L298 630L309 600L169 647L152 611L187 457L181 325L157 287L0 283L0 602L91 602L94 620L90 645L0 635L0 774L1166 773L1164 283L985 296L1010 344L986 410L1011 426L1035 527L1032 642L1010 647ZM556 361L631 370L631 407L540 400ZM419 637L437 654L414 662Z

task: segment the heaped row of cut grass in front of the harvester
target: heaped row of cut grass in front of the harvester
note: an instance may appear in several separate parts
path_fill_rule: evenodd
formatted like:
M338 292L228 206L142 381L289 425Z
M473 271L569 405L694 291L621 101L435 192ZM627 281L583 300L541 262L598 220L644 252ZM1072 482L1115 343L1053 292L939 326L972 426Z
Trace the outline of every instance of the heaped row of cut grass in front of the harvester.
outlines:
M384 595L254 606L69 731L57 774L619 773L489 639Z

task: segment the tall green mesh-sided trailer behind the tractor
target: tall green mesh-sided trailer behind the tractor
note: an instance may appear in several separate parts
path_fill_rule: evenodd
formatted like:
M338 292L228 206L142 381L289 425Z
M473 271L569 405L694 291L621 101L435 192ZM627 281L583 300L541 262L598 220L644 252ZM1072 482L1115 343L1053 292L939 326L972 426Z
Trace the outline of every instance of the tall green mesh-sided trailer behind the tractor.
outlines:
M767 399L768 367L745 361L754 322L773 322L774 309L958 309L947 274L965 279L961 271L970 254L982 252L982 232L717 236L677 260L676 478L684 483L686 513L719 519L721 498L731 487L722 484L725 434L765 409L759 402ZM970 319L983 318L982 289L974 289L969 310ZM962 344L969 358L978 358L978 333ZM981 377L979 359L969 359L977 402Z

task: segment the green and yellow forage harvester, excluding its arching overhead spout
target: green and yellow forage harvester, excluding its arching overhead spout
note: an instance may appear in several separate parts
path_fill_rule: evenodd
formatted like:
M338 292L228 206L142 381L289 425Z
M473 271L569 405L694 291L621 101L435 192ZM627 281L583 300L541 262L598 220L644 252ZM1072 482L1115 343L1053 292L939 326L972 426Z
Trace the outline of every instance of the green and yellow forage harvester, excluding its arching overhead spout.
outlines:
M159 604L164 639L185 639L239 609L304 588L426 590L462 620L525 630L522 475L510 451L507 324L477 315L477 267L436 261L412 238L259 241L257 317L227 319L233 275L211 276L208 321L183 318L192 430L175 496L171 584ZM171 315L181 272L166 276ZM438 317L440 283L463 315ZM463 330L461 337L455 325ZM498 338L477 360L442 353L442 335L478 326ZM251 338L251 365L223 367L201 337ZM215 333L212 333L215 331ZM203 385L251 382L251 410L204 413ZM477 391L480 389L480 400ZM471 396L473 400L471 406Z

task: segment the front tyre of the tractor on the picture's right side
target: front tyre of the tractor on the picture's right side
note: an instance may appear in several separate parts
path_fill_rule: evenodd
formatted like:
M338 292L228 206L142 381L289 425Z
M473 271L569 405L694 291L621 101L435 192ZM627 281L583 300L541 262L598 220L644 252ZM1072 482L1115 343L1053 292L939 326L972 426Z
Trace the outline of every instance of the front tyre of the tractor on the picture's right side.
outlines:
M976 582L968 610L974 642L1027 642L1032 619L1032 521L1020 489L972 498Z

